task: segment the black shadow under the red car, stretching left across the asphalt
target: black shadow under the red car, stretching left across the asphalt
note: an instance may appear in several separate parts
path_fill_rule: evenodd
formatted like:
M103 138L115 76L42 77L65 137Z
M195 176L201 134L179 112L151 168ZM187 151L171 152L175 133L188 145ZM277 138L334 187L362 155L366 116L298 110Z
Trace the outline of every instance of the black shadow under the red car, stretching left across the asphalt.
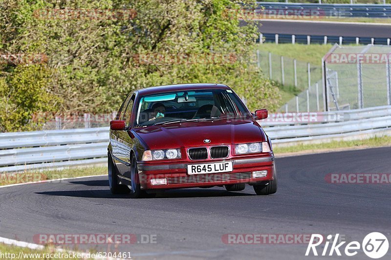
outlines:
M70 191L45 191L36 192L43 196L65 196L78 198L104 198L104 199L130 199L131 195L111 194L109 187L104 190L70 190ZM177 189L169 190L156 195L155 199L169 198L204 198L204 197L236 197L236 196L255 196L255 194L243 192L229 192L222 189ZM152 199L152 198L147 198Z

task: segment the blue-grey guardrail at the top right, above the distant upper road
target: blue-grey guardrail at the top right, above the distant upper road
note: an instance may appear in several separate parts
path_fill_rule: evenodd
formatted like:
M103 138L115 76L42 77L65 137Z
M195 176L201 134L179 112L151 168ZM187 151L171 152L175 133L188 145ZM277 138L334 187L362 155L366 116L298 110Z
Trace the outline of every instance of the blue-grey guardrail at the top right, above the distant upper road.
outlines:
M326 3L279 3L279 2L257 2L263 6L264 12L277 10L298 10L316 11L319 16L333 18L347 17L370 17L370 18L391 18L390 4L326 4ZM272 12L275 14L275 12Z

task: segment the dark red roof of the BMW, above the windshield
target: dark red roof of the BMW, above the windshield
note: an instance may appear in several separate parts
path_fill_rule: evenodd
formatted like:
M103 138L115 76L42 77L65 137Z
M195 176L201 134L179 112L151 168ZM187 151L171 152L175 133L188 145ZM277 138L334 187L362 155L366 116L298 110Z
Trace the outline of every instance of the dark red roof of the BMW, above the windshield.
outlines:
M136 90L141 96L164 93L164 92L174 92L182 90L200 90L200 89L231 89L229 86L224 84L216 83L193 83L193 84L174 84L174 85L164 85L164 86L155 86L148 87Z

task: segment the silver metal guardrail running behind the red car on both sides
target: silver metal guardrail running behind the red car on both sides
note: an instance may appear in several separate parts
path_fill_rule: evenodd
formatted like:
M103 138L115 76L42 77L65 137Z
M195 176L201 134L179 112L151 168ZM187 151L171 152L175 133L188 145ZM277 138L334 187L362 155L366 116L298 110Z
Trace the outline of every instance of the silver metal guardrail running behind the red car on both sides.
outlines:
M311 124L295 122L297 125L289 125L294 124L293 122L285 125L260 122L277 145L384 133L391 135L391 106L348 110L343 113L346 113L348 121L329 120ZM335 113L316 114L327 117ZM105 163L108 140L108 127L1 133L0 172Z

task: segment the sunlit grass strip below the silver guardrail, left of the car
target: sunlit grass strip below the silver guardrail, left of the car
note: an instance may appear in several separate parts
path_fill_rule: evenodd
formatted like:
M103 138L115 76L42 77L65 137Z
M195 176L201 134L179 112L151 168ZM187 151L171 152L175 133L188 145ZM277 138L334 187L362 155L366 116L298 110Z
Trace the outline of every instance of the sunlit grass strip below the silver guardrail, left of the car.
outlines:
M106 166L65 168L62 170L47 169L43 171L26 171L22 173L0 173L0 186L30 181L56 180L102 174L107 174Z

